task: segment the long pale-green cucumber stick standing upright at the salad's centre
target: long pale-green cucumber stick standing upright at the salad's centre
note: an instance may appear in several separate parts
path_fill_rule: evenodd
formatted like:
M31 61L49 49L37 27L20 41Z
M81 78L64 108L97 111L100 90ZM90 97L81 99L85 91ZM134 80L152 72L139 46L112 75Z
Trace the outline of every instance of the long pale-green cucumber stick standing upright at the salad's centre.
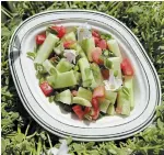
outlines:
M87 58L85 57L80 58L78 64L82 75L83 87L93 87L93 88L96 87L96 82L94 80L93 73L90 68Z

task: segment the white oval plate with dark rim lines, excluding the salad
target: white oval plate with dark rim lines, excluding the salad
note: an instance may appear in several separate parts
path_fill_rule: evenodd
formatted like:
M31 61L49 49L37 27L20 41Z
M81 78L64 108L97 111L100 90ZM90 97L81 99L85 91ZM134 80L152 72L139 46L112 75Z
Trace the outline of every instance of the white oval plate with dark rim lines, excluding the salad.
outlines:
M26 53L34 49L35 35L52 23L77 26L87 22L93 29L112 34L125 57L134 68L134 109L130 117L104 117L95 122L79 121L43 95L35 77L33 60ZM131 136L145 129L161 103L157 74L133 33L113 16L95 11L60 10L36 14L15 30L9 47L9 62L14 84L28 113L43 128L59 136L78 141L109 141Z

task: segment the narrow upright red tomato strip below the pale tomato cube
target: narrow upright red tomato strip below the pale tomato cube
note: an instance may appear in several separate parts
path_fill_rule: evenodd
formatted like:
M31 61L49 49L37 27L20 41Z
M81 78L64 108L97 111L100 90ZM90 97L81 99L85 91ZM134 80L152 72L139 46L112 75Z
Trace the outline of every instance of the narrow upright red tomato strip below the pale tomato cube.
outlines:
M93 120L96 120L99 115L99 104L98 104L98 100L95 99L95 98L92 98L92 107L93 107L93 115L92 115L92 119Z

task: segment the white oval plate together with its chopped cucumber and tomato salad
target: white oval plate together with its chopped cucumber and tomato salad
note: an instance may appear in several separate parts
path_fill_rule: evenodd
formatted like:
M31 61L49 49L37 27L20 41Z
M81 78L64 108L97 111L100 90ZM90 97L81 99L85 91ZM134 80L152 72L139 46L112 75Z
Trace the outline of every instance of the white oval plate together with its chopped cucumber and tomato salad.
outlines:
M99 12L36 14L14 32L9 56L24 107L59 136L124 139L145 129L160 104L159 78L138 38Z

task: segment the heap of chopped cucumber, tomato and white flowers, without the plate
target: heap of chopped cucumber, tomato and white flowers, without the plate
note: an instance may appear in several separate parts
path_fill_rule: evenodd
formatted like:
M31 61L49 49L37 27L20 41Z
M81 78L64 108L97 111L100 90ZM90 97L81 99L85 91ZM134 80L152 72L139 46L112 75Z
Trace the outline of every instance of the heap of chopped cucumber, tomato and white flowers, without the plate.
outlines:
M133 68L117 41L87 23L67 29L49 25L36 35L36 77L43 93L80 120L129 115L133 102Z

